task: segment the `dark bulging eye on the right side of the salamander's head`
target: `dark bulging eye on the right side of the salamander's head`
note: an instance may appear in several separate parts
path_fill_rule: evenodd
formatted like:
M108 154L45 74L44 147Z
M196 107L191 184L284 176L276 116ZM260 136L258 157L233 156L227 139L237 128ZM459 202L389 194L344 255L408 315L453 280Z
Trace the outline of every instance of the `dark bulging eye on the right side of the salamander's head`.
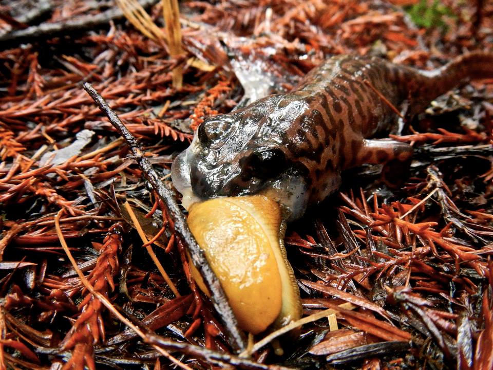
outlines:
M255 177L274 178L286 170L287 160L280 149L264 149L253 152L248 158L248 167Z

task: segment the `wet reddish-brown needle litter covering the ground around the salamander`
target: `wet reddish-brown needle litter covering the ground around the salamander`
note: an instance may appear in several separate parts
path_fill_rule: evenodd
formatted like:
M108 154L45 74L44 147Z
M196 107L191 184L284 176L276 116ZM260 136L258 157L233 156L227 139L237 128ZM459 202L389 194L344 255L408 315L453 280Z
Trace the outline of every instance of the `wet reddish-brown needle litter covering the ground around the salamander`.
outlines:
M0 368L493 368L493 81L407 122L394 138L415 156L399 189L373 167L348 171L289 226L308 318L283 357L262 337L237 352L173 212L82 88L171 189L170 163L205 117L289 91L331 53L430 68L491 51L491 1L182 2L178 48L160 2L119 3L134 8L0 2ZM154 36L124 18L135 3Z

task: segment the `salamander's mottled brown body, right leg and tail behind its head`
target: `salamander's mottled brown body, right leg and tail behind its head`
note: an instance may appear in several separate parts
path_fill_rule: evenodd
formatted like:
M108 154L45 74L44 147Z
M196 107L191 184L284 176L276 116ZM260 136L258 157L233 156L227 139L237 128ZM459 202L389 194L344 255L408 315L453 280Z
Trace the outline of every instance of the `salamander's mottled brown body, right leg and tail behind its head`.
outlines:
M305 99L323 116L324 152L308 156L301 146L287 143L292 160L305 164L313 188L323 189L327 179L323 174L362 163L384 163L389 160L407 160L412 150L407 144L393 141L369 140L379 131L390 131L397 115L372 89L371 84L393 106L399 108L409 99L409 114L418 113L429 102L466 78L485 78L493 75L493 55L470 53L448 65L433 70L418 69L392 64L378 58L362 58L340 55L330 58L312 70L294 90L294 95ZM367 82L365 82L365 80ZM320 120L312 122L320 124ZM305 130L293 122L299 138L309 138L312 130ZM330 140L327 140L329 138ZM288 138L289 139L289 138ZM302 141L302 140L298 140ZM382 145L380 145L382 143ZM306 159L313 159L308 161ZM328 189L330 191L332 189ZM322 200L326 191L312 192Z

